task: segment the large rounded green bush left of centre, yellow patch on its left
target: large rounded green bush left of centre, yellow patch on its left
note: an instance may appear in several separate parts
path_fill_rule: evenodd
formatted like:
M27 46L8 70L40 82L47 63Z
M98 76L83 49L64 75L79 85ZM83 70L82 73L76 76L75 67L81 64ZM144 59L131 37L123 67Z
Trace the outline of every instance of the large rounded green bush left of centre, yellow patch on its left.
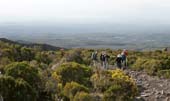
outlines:
M78 82L85 86L91 86L90 77L92 69L75 62L64 63L53 73L53 77L65 85L67 82Z

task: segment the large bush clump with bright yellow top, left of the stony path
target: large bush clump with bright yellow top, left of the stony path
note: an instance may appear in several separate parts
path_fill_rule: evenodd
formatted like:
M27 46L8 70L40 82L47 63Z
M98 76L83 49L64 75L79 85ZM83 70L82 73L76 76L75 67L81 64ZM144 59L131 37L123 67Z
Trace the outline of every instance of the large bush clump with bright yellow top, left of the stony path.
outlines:
M94 74L91 80L98 92L104 92L104 101L129 101L138 93L133 79L119 69Z

